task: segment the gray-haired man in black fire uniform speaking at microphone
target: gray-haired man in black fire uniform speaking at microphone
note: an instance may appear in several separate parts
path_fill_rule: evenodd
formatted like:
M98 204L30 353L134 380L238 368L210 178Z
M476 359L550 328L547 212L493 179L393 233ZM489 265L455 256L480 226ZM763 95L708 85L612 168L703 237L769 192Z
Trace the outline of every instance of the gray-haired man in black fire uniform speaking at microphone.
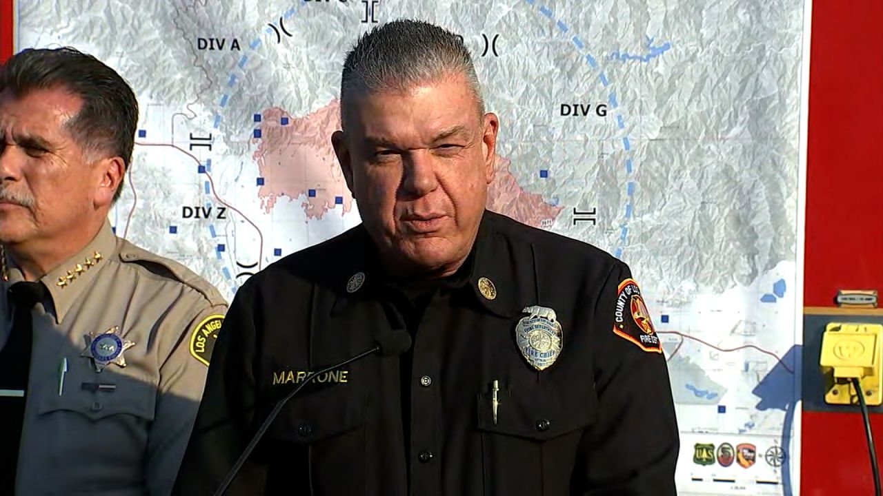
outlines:
M341 100L332 143L363 224L239 289L178 492L214 492L309 380L228 494L674 494L675 410L638 284L591 245L485 210L499 124L462 41L375 28ZM396 328L413 341L401 356L308 375Z

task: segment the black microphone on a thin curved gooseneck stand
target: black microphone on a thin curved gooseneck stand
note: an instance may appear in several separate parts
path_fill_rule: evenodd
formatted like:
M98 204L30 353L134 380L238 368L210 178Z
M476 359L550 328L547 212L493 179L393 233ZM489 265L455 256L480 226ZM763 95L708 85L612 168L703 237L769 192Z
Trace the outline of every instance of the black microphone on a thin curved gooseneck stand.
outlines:
M239 469L242 468L245 460L248 459L248 456L252 454L254 447L258 446L260 438L264 437L264 432L267 432L270 424L273 424L275 417L279 415L280 411L282 411L285 403L291 400L291 397L297 395L298 391L309 384L314 377L325 372L331 372L335 369L339 369L340 367L343 367L343 365L351 364L352 362L355 362L356 360L359 360L361 358L367 357L369 355L374 355L374 353L379 353L381 357L395 357L396 355L401 355L409 348L411 348L411 334L408 334L402 329L394 329L392 332L382 334L380 337L378 337L377 340L374 342L373 348L367 349L366 351L359 353L355 357L347 358L339 364L328 365L327 367L324 367L316 372L309 372L308 374L306 374L306 379L304 380L304 382L298 384L298 387L292 389L291 393L285 395L283 399L279 400L279 402L276 403L275 407L273 407L273 410L270 410L267 419L264 420L264 423L260 425L260 429L258 429L258 432L254 433L254 437L248 443L248 446L245 447L245 451L242 452L242 455L239 455L239 459L236 461L235 464L233 464L233 468L230 469L229 472L227 472L227 477L224 477L223 482L220 486L218 486L218 490L215 491L215 496L222 496L223 492L227 491L227 487L230 485L230 483L233 482L233 479L238 474Z

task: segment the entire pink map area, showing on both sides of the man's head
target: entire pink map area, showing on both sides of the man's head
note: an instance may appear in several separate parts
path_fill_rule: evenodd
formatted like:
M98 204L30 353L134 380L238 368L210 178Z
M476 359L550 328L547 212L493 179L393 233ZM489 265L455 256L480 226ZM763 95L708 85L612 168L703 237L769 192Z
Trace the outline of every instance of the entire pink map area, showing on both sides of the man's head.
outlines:
M281 124L282 118L288 124ZM352 209L352 195L331 147L331 133L340 129L340 102L333 100L325 107L304 117L292 117L283 109L266 109L261 114L260 139L253 159L258 163L264 184L258 190L261 207L269 213L278 199L297 199L307 218L321 219L328 210L338 207L336 198L343 199L343 212ZM497 157L496 177L487 192L487 207L494 212L537 228L546 228L555 221L562 207L546 203L540 194L525 192L509 171L511 162ZM315 192L309 196L310 190Z

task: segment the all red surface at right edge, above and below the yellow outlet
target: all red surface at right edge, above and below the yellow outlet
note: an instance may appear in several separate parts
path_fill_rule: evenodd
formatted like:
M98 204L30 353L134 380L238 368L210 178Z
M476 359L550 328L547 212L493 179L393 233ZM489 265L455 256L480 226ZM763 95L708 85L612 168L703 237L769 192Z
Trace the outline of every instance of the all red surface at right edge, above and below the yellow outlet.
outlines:
M806 306L834 306L837 289L883 293L881 32L883 1L813 2ZM872 425L883 456L883 415ZM804 495L873 493L860 414L804 411L802 442Z

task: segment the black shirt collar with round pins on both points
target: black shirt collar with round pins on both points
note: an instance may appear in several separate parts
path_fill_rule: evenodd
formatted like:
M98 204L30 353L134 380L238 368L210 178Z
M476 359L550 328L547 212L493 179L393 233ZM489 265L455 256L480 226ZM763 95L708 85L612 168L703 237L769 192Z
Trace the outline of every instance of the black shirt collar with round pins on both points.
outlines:
M515 259L507 240L496 229L497 217L499 214L488 211L482 215L472 252L447 285L462 291L488 312L510 318L521 312L525 302L535 299L533 260ZM338 285L335 313L346 301L381 296L389 288L374 243L364 226L359 225L344 236L352 236L352 248L350 256L335 271ZM521 284L518 279L524 278L517 274L519 264L529 267L526 272L531 276Z

